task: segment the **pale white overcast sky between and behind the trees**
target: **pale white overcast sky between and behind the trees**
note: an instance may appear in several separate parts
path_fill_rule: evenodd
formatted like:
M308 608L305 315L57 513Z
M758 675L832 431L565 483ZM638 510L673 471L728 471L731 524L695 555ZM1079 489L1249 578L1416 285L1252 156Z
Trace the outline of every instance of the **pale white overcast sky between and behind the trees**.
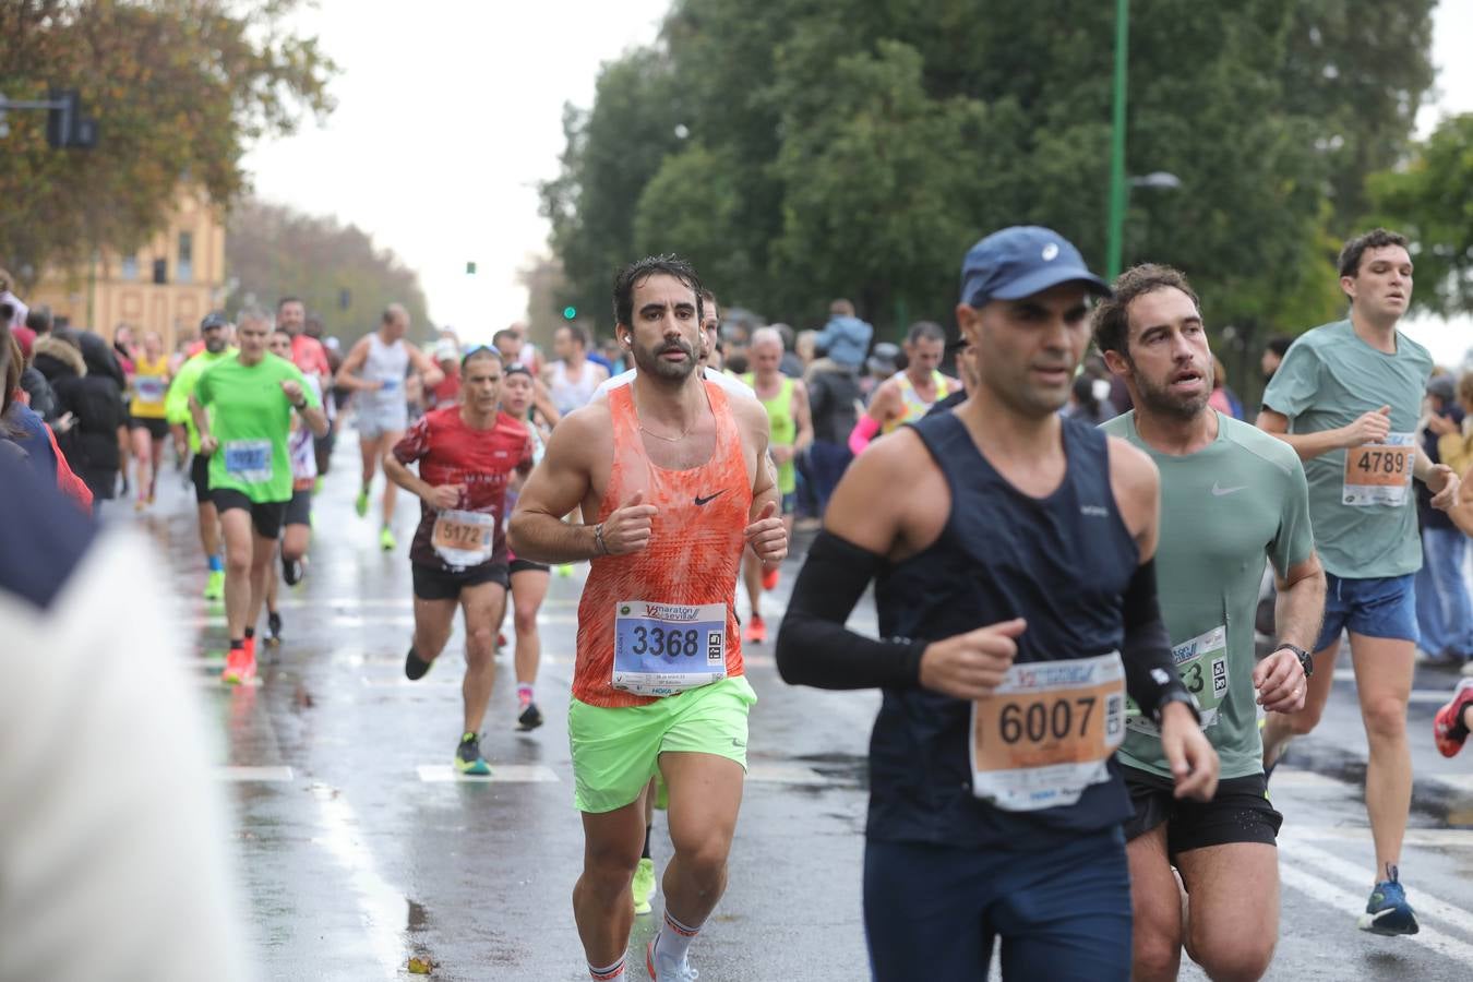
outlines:
M536 183L557 174L563 105L586 107L598 66L651 43L669 6L321 0L298 29L342 68L337 110L246 156L256 193L364 228L418 271L435 321L489 339L524 315L517 269L546 252ZM1438 105L1418 130L1473 110L1473 59L1457 50L1467 37L1473 3L1442 0Z

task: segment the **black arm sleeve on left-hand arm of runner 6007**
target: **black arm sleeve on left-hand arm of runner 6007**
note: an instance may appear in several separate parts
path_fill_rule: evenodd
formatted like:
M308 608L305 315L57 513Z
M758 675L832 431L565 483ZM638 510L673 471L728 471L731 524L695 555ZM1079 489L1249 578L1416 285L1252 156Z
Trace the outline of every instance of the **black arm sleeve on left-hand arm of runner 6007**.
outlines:
M820 531L809 549L778 633L778 671L819 689L913 689L921 640L875 640L844 627L884 558Z

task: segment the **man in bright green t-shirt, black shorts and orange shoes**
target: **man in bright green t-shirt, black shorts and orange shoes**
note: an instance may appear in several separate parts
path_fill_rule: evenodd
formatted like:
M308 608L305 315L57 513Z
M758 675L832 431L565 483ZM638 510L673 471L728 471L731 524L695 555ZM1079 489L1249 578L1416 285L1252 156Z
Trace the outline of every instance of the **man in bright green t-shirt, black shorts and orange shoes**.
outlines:
M300 370L267 352L267 314L242 311L236 334L240 353L211 365L190 396L199 449L209 453L209 496L225 533L230 654L221 679L230 683L249 682L256 673L255 624L292 501L292 411L314 434L327 433L323 405Z

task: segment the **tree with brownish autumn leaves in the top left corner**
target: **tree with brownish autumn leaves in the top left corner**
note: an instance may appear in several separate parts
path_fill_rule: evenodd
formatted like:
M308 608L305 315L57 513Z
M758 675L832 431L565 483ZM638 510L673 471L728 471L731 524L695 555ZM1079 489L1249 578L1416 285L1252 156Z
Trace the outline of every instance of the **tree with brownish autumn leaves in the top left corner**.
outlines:
M0 4L0 91L77 88L94 150L47 146L46 115L12 112L0 141L0 259L25 281L158 230L183 178L228 208L242 155L331 110L336 71L286 19L298 0L12 0Z

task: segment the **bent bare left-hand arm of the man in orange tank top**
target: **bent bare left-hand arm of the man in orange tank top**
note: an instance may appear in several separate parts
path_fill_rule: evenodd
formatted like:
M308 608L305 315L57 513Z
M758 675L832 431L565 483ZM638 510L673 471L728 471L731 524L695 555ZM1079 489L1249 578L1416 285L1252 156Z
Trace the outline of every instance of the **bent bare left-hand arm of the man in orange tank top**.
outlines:
M517 508L507 524L507 545L524 559L577 562L605 555L595 531L598 526L563 521L563 515L583 504L592 487L588 449L610 439L607 428L600 433L592 425L592 415L582 409L563 418L548 439L542 462L517 495Z

